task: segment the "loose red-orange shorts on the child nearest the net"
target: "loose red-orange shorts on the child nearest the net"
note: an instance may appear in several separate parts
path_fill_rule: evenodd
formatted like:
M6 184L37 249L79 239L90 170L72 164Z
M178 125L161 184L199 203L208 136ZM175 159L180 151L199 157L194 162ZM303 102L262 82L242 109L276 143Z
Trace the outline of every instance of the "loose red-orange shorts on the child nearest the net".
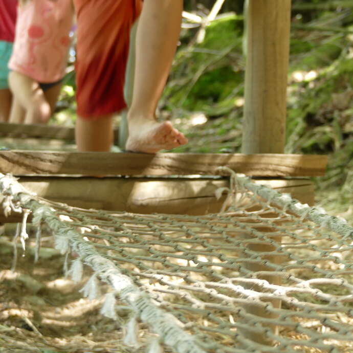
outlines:
M74 0L77 14L77 114L94 119L121 111L131 26L142 0Z

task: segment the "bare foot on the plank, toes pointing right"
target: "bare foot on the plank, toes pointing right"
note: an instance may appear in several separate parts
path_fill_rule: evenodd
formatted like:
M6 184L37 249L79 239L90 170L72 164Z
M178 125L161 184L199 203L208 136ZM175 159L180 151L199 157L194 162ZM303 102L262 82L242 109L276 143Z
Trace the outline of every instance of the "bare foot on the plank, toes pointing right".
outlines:
M160 123L151 119L129 119L128 127L128 151L156 153L161 149L172 149L188 142L184 134L173 128L169 121Z

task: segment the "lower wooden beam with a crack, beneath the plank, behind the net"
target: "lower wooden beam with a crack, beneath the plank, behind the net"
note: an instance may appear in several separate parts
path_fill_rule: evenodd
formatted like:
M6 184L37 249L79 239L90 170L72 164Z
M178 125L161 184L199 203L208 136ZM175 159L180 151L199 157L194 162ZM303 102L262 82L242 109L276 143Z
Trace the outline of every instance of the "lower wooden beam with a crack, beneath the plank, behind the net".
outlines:
M229 186L228 178L21 177L19 182L41 197L76 207L190 215L218 212L225 196L217 200L215 191ZM314 204L314 186L310 180L257 180L256 183L290 193L302 203ZM0 220L14 222L13 217L6 219L2 213Z

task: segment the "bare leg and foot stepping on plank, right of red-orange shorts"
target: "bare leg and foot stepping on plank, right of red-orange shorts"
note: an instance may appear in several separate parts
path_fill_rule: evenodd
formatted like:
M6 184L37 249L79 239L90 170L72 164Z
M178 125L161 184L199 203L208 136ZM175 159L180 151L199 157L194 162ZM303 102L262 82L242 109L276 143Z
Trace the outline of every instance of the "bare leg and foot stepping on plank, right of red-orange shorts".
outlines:
M126 149L155 153L186 144L171 123L159 123L155 112L180 34L182 0L145 1L136 37L134 94L128 112Z

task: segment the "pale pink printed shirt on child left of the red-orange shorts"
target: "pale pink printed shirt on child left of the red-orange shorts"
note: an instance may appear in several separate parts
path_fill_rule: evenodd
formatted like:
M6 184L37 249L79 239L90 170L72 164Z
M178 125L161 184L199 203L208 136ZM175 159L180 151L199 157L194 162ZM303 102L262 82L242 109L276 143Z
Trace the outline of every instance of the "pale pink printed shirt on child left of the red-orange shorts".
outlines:
M74 10L71 0L31 0L18 7L11 70L41 83L65 75Z

